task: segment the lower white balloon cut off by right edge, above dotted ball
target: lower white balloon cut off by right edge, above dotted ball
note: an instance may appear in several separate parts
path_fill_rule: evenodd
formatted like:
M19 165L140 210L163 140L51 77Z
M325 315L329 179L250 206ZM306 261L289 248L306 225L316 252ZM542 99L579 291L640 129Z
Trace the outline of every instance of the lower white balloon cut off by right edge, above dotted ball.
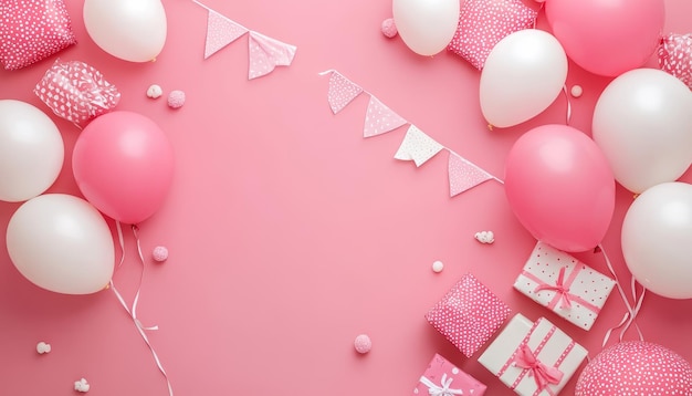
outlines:
M692 186L662 183L643 191L622 222L622 253L635 279L670 299L692 299Z

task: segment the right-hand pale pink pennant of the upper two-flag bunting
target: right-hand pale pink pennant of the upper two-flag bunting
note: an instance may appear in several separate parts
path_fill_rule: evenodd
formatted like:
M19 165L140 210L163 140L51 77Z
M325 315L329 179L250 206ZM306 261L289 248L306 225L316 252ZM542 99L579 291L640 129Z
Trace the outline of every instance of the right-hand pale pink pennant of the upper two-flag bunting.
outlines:
M250 32L249 80L271 73L275 66L287 66L293 62L296 48L258 32Z

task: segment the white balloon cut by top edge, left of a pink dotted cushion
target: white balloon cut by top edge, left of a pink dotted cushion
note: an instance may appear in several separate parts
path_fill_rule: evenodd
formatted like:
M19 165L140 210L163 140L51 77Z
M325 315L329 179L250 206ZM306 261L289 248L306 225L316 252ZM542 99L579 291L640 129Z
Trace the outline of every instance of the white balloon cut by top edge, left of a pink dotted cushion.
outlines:
M403 43L420 55L444 50L459 27L459 0L394 0L392 14Z

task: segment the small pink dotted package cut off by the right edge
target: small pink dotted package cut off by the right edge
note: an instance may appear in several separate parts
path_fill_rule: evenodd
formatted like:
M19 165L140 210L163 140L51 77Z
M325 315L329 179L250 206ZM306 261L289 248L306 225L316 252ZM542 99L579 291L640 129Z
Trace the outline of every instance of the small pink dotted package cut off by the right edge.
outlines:
M659 67L692 88L692 34L670 33L658 49Z

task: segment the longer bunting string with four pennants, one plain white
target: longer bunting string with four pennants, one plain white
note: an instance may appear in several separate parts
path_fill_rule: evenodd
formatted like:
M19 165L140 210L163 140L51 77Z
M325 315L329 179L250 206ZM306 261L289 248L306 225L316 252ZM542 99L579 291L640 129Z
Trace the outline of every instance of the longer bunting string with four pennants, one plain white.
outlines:
M504 184L497 177L485 171L478 165L452 152L448 147L438 143L420 128L395 111L385 105L379 98L364 90L360 85L346 79L335 70L327 70L319 75L329 75L329 87L327 102L335 115L343 111L360 94L366 94L370 98L365 112L364 137L371 137L395 131L403 125L409 125L403 140L395 154L395 159L412 160L416 167L420 167L429 159L445 150L448 158L448 179L450 197L454 197L487 180L495 180Z

